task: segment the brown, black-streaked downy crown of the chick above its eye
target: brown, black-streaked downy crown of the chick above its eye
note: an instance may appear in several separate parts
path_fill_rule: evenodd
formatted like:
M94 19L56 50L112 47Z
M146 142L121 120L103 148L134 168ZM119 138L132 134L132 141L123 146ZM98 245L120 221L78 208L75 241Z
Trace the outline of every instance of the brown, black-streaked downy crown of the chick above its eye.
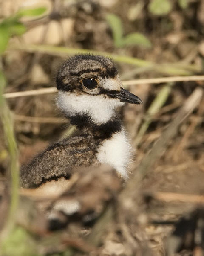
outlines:
M59 69L56 79L57 89L62 91L72 91L77 87L80 89L82 79L114 78L117 73L110 58L92 54L74 55Z

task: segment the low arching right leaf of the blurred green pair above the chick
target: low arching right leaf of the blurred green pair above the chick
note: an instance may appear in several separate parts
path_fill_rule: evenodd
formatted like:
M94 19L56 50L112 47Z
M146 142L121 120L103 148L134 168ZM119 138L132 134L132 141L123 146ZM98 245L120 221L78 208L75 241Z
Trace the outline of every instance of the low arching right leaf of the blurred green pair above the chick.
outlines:
M131 33L123 38L123 45L141 45L143 47L151 47L151 43L146 36L141 33Z

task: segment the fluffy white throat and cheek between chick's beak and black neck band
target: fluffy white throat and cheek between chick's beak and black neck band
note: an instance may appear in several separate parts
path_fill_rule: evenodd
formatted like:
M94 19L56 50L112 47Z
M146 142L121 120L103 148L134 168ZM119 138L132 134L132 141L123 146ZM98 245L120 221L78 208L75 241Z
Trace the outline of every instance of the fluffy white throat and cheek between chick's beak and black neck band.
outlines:
M58 107L68 116L87 114L97 125L108 122L114 114L114 109L124 104L119 99L105 98L102 95L76 95L63 91L59 91L57 100Z

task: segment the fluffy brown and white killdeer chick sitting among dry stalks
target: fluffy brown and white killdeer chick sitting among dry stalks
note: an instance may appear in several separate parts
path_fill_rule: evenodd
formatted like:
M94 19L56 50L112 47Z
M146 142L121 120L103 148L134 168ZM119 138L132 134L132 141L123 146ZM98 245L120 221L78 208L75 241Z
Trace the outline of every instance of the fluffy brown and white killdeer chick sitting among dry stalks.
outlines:
M57 105L78 135L49 146L21 170L21 185L68 179L79 166L105 163L127 179L131 146L116 108L142 100L122 88L115 65L99 55L75 55L57 73Z

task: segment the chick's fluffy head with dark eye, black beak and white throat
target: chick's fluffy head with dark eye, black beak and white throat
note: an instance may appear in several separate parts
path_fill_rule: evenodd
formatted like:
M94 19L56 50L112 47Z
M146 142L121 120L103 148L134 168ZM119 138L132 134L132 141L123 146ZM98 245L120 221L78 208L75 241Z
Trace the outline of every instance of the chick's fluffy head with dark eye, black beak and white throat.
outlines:
M57 73L58 106L67 116L87 115L96 124L107 122L113 110L125 104L141 104L138 96L122 88L110 58L75 55Z

